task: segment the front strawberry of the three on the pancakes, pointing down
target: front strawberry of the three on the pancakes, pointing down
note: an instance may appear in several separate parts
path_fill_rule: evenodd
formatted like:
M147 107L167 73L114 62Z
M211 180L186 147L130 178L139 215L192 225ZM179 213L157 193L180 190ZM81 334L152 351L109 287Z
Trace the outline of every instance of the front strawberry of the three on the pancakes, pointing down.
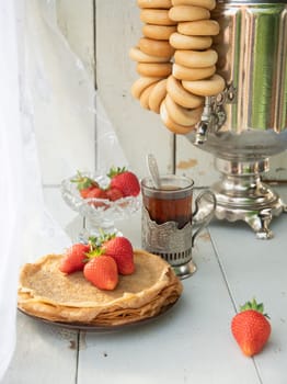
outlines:
M91 258L83 268L83 275L100 290L113 291L118 283L116 262L105 255Z

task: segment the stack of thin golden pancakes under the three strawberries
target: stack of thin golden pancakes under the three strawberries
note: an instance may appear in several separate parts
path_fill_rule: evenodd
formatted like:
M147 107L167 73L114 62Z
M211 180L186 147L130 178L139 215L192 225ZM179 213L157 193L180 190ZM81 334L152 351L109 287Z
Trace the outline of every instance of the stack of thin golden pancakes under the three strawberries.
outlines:
M19 308L32 316L88 326L117 326L163 313L182 293L182 283L163 259L135 250L136 271L119 278L114 291L99 290L83 273L59 271L61 255L24 264Z

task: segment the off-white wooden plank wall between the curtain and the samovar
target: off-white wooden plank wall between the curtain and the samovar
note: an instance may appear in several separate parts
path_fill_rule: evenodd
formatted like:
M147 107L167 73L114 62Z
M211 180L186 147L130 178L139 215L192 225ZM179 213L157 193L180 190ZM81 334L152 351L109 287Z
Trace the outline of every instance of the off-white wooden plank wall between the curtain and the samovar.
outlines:
M214 157L195 148L185 137L174 136L160 117L140 108L130 95L138 78L128 50L141 36L136 0L58 0L59 25L97 87L97 131L102 114L114 127L131 168L146 174L146 155L153 153L162 172L186 173L197 185L218 179ZM92 33L93 32L93 33ZM100 98L100 99L99 99ZM274 156L267 179L287 180L287 155Z

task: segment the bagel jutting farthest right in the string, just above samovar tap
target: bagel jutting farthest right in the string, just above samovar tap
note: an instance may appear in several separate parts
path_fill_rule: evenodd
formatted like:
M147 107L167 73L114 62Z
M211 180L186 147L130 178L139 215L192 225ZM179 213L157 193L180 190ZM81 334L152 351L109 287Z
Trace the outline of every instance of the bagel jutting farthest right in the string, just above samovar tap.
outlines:
M183 87L197 95L209 97L223 91L226 87L225 79L215 74L211 78L197 81L182 81Z

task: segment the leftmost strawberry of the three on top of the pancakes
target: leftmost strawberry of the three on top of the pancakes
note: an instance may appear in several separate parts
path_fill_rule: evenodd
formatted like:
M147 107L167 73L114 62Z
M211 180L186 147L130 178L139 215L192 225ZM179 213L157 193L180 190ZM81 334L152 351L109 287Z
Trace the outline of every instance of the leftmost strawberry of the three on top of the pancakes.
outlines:
M89 245L81 242L74 244L73 246L67 249L59 266L59 270L68 274L76 271L81 271L84 267L84 261L89 251Z

